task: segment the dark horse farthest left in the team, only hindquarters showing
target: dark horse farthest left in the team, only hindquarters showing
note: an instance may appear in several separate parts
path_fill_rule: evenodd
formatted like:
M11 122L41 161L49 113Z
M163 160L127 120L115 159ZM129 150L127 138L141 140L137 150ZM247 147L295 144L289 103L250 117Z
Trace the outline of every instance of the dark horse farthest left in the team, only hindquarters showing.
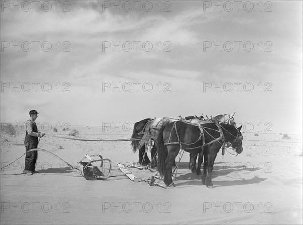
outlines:
M151 120L153 120L153 119L146 118L146 119L143 119L134 124L134 129L133 129L133 133L131 136L131 139L132 139L131 146L132 146L134 153L137 151L137 149L139 149L139 143L141 140L140 138L143 137L143 133L144 133L146 124ZM149 160L147 154L145 153L145 146L144 146L144 148L142 147L141 151L139 151L139 163L142 165L147 165L150 163L150 160Z

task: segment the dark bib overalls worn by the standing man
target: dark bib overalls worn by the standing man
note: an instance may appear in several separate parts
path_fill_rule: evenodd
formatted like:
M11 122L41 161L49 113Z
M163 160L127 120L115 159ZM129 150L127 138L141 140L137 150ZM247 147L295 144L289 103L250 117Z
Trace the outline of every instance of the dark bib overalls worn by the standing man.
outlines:
M31 121L31 120L29 120L29 121ZM34 123L33 123L32 130L33 130L33 132L38 133L37 125ZM38 137L31 136L26 131L24 145L25 145L25 151L26 151L24 170L29 170L31 172L34 172L35 168L36 168L36 161L38 158L38 153L37 153L37 151L32 151L32 152L27 152L27 151L38 147Z

